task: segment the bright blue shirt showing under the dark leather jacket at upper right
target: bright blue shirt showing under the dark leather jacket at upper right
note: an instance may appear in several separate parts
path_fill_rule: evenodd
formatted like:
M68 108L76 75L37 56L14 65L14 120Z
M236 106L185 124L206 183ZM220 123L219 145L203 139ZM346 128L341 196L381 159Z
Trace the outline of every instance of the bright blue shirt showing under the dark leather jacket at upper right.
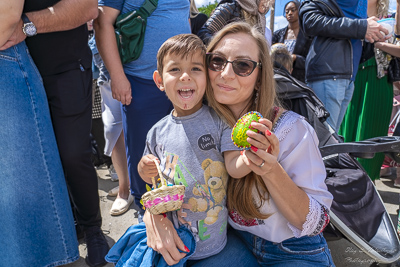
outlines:
M336 3L342 9L344 15L351 19L367 18L367 0L336 0ZM360 39L351 39L353 46L353 76L351 80L356 79L358 65L360 64L362 53L362 42Z

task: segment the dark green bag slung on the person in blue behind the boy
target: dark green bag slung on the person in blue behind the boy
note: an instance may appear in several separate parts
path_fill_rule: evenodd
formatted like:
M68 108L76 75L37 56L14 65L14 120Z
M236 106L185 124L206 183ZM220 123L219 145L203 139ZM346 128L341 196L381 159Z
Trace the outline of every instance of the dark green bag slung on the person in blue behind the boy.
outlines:
M139 9L119 15L115 21L115 37L122 64L139 58L143 50L147 17L157 8L158 0L145 0Z

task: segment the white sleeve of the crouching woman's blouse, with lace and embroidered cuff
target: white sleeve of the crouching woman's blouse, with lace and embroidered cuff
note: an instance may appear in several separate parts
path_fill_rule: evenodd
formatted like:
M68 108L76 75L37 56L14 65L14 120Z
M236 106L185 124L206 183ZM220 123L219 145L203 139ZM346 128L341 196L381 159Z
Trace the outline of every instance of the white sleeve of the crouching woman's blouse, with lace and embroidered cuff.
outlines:
M290 123L289 123L290 124ZM292 121L279 133L278 161L293 182L309 197L309 213L302 229L290 223L295 237L319 234L329 222L332 194L325 184L326 169L318 148L318 138L304 118Z

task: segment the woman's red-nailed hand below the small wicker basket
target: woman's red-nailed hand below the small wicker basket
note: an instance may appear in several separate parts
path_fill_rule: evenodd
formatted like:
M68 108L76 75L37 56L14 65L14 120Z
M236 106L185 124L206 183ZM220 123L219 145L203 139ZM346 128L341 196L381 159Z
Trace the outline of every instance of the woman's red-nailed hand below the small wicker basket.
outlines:
M147 246L161 253L168 265L177 264L186 256L178 249L182 251L189 249L179 238L172 222L167 217L152 215L146 211L143 222L146 225Z

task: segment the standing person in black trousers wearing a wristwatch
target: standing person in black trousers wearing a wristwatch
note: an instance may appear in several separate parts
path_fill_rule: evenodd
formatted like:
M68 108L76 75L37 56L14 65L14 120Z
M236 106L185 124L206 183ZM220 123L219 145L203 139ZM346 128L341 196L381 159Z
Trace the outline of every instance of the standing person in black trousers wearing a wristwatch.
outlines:
M96 171L91 162L92 54L86 22L96 0L26 0L7 45L26 39L43 77L75 217L84 231L89 266L106 264Z

